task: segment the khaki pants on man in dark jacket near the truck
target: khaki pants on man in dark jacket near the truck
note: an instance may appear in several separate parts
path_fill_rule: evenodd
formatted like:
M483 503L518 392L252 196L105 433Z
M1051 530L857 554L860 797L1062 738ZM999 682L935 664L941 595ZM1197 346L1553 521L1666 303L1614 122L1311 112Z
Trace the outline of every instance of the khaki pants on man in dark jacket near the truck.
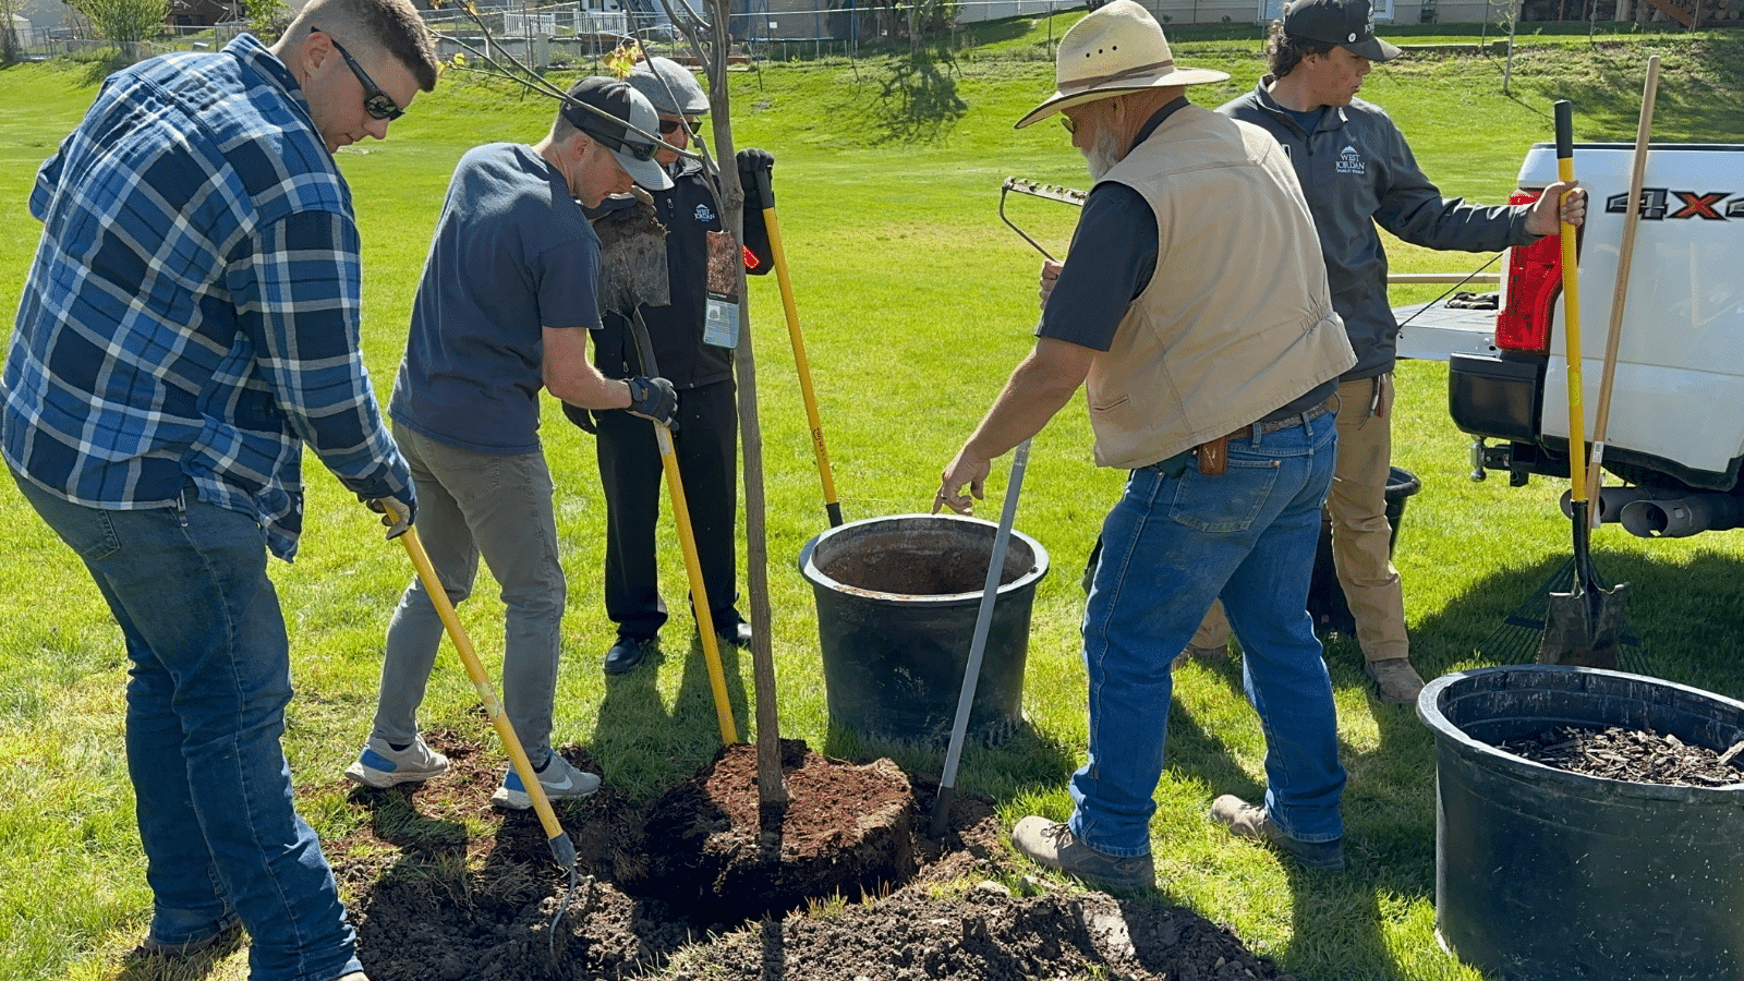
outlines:
M1338 464L1325 510L1332 518L1332 566L1357 620L1357 642L1369 662L1411 656L1404 590L1390 555L1386 482L1392 477L1393 375L1338 386ZM1380 414L1376 412L1380 407ZM1214 602L1193 634L1195 648L1223 648L1230 621Z

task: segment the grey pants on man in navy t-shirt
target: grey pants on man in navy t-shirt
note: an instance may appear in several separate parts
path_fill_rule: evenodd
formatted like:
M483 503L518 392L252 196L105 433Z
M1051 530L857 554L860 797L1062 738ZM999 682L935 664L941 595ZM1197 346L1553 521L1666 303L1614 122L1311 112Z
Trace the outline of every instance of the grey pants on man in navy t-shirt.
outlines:
M551 705L563 642L563 566L551 510L551 471L544 454L494 456L438 443L394 424L394 442L419 489L419 541L431 557L448 602L473 595L480 553L502 593L502 710L534 766L551 756ZM443 623L413 576L387 621L377 737L392 744L419 735Z

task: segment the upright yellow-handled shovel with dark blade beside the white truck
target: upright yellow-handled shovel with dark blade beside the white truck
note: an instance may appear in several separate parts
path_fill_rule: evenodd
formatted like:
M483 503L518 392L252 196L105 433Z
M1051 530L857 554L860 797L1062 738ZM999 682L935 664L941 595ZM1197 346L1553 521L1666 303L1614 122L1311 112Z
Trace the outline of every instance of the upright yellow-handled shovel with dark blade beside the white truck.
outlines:
M1556 164L1557 176L1575 180L1573 108L1568 99L1556 103ZM1587 435L1585 405L1580 394L1580 278L1575 227L1563 222L1563 318L1564 351L1568 356L1568 477L1571 482L1570 508L1575 534L1575 581L1566 593L1550 593L1545 611L1543 639L1538 644L1538 663L1570 663L1584 667L1617 667L1618 627L1629 585L1615 590L1599 587L1592 573L1591 534L1592 517L1587 496Z

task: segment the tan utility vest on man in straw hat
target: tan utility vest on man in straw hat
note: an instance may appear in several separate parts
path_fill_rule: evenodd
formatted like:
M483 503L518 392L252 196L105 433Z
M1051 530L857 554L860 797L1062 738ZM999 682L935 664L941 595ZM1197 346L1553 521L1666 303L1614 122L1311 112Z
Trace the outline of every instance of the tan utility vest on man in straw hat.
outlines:
M1277 140L1184 106L1102 178L1156 213L1156 272L1090 363L1097 466L1139 468L1263 419L1357 363Z

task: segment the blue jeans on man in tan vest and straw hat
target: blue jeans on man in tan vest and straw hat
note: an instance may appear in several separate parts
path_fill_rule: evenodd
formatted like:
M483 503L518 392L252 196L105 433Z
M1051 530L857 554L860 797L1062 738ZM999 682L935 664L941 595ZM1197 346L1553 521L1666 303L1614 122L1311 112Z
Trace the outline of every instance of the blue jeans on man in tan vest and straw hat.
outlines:
M1071 780L1071 829L1097 852L1151 850L1172 663L1219 597L1266 735L1271 820L1301 841L1345 834L1332 681L1306 611L1336 440L1327 414L1230 440L1223 477L1132 471L1102 524L1083 623L1090 759Z

